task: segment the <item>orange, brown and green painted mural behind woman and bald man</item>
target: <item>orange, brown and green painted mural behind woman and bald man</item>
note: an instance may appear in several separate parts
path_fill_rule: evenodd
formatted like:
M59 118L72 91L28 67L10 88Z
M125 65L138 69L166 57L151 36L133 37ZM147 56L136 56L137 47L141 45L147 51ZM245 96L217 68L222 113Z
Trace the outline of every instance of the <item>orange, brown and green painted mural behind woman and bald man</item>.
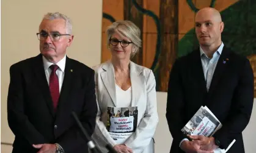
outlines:
M194 18L203 7L221 12L225 24L222 41L247 56L256 77L255 0L103 0L101 62L111 58L105 34L109 24L133 21L141 29L142 48L132 60L153 70L157 91L167 91L175 59L199 47Z

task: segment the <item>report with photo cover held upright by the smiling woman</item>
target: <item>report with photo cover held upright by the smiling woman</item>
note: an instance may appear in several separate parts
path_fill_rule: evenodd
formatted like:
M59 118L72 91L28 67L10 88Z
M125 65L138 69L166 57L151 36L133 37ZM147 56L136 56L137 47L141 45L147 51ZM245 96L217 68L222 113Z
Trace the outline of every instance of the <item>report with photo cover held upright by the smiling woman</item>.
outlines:
M117 143L124 143L135 132L137 114L137 107L108 107L106 128Z

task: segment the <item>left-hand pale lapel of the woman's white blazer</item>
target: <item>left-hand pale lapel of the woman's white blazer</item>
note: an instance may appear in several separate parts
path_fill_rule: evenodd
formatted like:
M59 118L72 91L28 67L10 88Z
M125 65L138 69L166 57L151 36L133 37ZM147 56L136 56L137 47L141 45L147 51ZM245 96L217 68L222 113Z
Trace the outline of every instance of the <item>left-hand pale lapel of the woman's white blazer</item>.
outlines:
M111 97L114 105L117 105L116 96L115 96L115 74L114 67L111 62L106 62L102 68L105 70L100 73L101 79L108 90L109 96Z

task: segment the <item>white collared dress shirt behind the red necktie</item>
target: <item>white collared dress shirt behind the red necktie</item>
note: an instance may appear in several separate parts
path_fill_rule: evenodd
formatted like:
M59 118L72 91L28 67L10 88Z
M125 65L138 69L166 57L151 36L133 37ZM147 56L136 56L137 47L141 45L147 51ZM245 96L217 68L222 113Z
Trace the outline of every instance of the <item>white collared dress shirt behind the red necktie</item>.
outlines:
M65 74L65 64L66 64L66 55L61 59L59 62L56 63L59 68L56 71L56 74L59 79L59 92L61 91L62 83L64 80L64 74ZM54 65L54 63L49 62L44 56L43 56L43 67L45 68L45 76L49 85L49 76L51 75L51 68L49 66Z

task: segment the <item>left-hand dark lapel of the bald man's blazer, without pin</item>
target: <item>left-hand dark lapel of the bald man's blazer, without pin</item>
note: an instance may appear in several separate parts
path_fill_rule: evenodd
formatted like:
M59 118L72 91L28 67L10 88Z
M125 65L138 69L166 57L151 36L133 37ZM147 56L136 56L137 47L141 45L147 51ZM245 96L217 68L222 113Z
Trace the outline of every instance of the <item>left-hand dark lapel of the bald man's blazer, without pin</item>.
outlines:
M206 93L207 92L207 85L205 82L205 76L203 74L203 66L201 62L201 57L200 57L200 51L199 49L197 51L192 52L192 71L191 71L191 76L192 78L195 79L195 85L199 86L199 90L201 93ZM194 80L192 80L194 81Z

